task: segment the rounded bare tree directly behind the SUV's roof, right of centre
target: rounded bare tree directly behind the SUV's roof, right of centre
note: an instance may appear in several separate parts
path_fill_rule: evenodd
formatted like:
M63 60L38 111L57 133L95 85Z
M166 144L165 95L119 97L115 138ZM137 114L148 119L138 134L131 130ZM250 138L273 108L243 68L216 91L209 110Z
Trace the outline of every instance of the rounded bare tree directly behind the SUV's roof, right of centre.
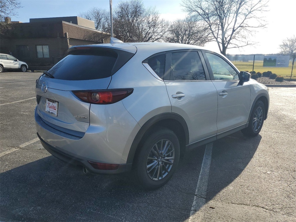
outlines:
M204 46L210 40L210 31L204 22L192 17L178 19L170 25L167 41Z

